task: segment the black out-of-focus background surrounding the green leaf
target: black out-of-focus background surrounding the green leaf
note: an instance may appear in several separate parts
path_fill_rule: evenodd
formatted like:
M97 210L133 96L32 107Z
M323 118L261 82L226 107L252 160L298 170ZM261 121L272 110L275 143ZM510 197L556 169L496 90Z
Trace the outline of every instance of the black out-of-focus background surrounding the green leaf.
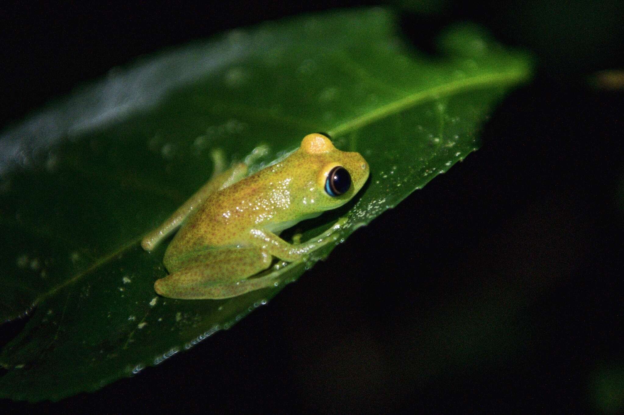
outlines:
M536 55L534 82L495 111L482 149L232 330L97 393L7 408L622 410L624 93L592 80L622 68L624 8L524 3L401 8L404 32L420 49L432 52L442 27L467 20ZM0 126L163 47L356 4L3 2Z

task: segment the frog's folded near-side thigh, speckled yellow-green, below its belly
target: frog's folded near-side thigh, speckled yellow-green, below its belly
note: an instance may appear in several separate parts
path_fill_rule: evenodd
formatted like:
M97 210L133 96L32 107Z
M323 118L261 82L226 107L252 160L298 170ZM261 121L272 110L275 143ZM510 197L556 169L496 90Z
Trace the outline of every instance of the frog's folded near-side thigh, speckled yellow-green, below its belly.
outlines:
M154 283L164 297L215 298L213 287L235 284L271 265L271 256L258 248L222 248L199 251L182 263L166 264L168 276ZM177 266L176 266L177 265Z

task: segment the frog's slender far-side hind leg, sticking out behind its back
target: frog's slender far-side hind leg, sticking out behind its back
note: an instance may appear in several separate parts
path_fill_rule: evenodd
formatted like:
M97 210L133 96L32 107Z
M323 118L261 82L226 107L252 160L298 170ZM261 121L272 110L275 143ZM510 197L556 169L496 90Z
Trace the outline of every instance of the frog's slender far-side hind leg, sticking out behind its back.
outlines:
M141 246L145 251L151 251L154 249L160 241L171 235L177 228L182 225L182 222L193 213L193 209L197 209L204 200L214 192L225 189L226 187L238 182L247 174L246 164L240 163L231 169L222 170L223 162L218 160L218 153L213 152L213 160L215 162L215 172L212 179L208 180L206 184L200 187L195 194L193 194L188 200L180 206L173 214L167 218L158 228L152 230L141 241Z

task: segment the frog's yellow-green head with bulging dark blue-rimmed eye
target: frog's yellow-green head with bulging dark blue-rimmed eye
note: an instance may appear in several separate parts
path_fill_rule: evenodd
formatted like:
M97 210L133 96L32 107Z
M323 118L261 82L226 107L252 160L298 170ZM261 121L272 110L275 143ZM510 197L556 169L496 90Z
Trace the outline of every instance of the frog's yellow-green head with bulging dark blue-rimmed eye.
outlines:
M310 213L344 205L368 179L368 163L361 154L340 151L322 134L305 136L297 152L300 162L305 164L300 171L307 175L301 203Z

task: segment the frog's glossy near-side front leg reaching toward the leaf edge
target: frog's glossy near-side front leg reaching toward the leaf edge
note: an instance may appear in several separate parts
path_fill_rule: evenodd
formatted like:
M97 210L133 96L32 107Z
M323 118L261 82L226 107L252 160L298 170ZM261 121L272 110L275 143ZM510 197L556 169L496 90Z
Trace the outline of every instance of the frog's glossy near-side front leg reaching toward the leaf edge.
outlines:
M338 240L340 237L338 230L344 226L347 218L340 218L331 228L316 238L304 243L291 244L275 235L275 233L260 229L251 230L251 243L258 248L266 249L268 253L283 261L294 262L305 258L311 251L321 248L321 246ZM300 238L300 237L299 237ZM299 239L298 238L298 239Z

